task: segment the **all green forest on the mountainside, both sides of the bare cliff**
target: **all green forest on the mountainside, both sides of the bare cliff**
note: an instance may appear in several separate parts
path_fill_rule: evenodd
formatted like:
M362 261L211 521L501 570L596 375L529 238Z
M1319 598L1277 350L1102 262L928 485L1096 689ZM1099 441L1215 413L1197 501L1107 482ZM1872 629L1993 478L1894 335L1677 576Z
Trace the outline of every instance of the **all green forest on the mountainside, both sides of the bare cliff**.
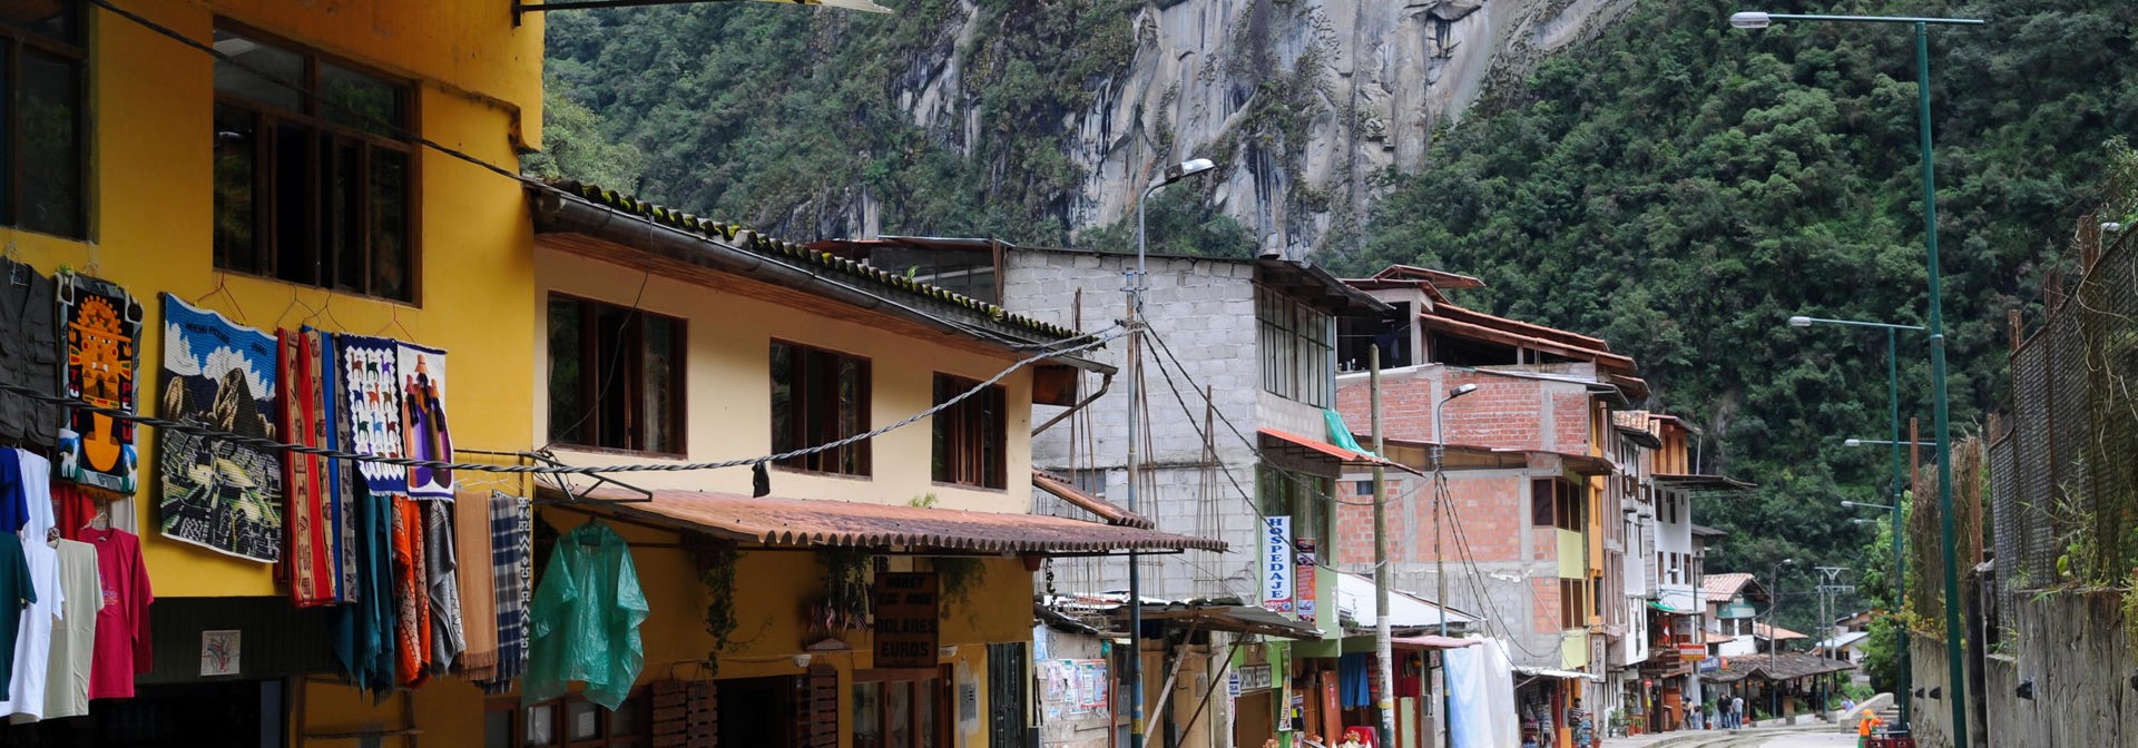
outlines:
M810 239L866 190L885 233L1067 237L1060 113L1129 60L1127 0L983 0L896 17L699 4L556 13L554 94L605 122L552 124L603 180ZM1794 329L1792 314L1924 323L1914 36L1905 26L1732 30L1734 0L1638 0L1601 38L1488 92L1420 173L1388 175L1360 254L1338 269L1437 265L1482 276L1462 303L1604 336L1655 383L1655 408L1706 427L1708 470L1760 483L1708 500L1732 532L1708 571L1779 558L1783 624L1811 626L1804 566L1856 566L1886 590L1871 526L1837 502L1884 500L1886 355L1877 331ZM2003 312L2038 312L2074 220L2100 203L2104 141L2138 128L2129 0L1777 0L1775 13L1990 19L1933 28L1939 227L1952 419L2003 398ZM898 92L951 45L983 124L919 128ZM575 118L584 109L554 107ZM620 145L611 145L620 143ZM607 154L607 156L601 156ZM1251 241L1193 201L1157 201L1165 250ZM1120 227L1093 233L1107 244ZM1926 340L1901 338L1903 417L1928 438ZM1843 601L1843 607L1856 601Z

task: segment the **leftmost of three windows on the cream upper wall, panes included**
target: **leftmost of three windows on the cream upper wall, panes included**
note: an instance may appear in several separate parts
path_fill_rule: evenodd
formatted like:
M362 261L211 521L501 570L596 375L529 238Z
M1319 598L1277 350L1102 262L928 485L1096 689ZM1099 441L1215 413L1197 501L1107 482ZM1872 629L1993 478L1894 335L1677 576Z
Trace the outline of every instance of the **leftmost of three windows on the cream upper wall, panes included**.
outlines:
M549 440L682 455L684 323L549 295Z

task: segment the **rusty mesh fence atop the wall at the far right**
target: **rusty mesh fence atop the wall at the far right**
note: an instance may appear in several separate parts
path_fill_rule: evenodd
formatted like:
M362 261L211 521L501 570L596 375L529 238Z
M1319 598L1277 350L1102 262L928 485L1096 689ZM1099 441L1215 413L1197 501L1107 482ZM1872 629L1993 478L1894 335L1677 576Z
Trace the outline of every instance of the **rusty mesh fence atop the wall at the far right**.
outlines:
M2048 318L2014 348L2010 427L1990 434L2001 611L2138 566L2138 241L2085 265L2070 293L2050 284Z

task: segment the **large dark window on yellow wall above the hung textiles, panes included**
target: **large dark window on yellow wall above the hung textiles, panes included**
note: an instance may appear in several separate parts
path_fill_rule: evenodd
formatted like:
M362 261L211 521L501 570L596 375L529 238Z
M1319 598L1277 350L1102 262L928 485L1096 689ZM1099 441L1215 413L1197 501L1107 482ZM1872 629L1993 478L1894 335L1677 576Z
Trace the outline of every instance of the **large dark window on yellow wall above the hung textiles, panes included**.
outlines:
M218 24L216 267L415 301L415 85Z

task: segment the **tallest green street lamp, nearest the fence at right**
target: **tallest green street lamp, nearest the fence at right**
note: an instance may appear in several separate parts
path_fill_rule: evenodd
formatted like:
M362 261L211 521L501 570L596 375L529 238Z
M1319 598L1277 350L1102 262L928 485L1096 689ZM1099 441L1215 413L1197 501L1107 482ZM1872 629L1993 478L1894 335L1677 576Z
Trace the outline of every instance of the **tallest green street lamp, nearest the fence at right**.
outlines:
M1982 19L1896 17L1896 15L1787 15L1745 11L1730 15L1736 28L1768 28L1775 21L1907 24L1916 28L1916 135L1922 150L1922 244L1931 291L1931 408L1937 434L1937 530L1946 554L1946 677L1952 682L1952 744L1967 746L1967 669L1961 660L1961 577L1952 528L1952 423L1946 408L1946 312L1937 278L1937 169L1931 162L1931 24L1982 26ZM1899 436L1894 436L1899 440Z

